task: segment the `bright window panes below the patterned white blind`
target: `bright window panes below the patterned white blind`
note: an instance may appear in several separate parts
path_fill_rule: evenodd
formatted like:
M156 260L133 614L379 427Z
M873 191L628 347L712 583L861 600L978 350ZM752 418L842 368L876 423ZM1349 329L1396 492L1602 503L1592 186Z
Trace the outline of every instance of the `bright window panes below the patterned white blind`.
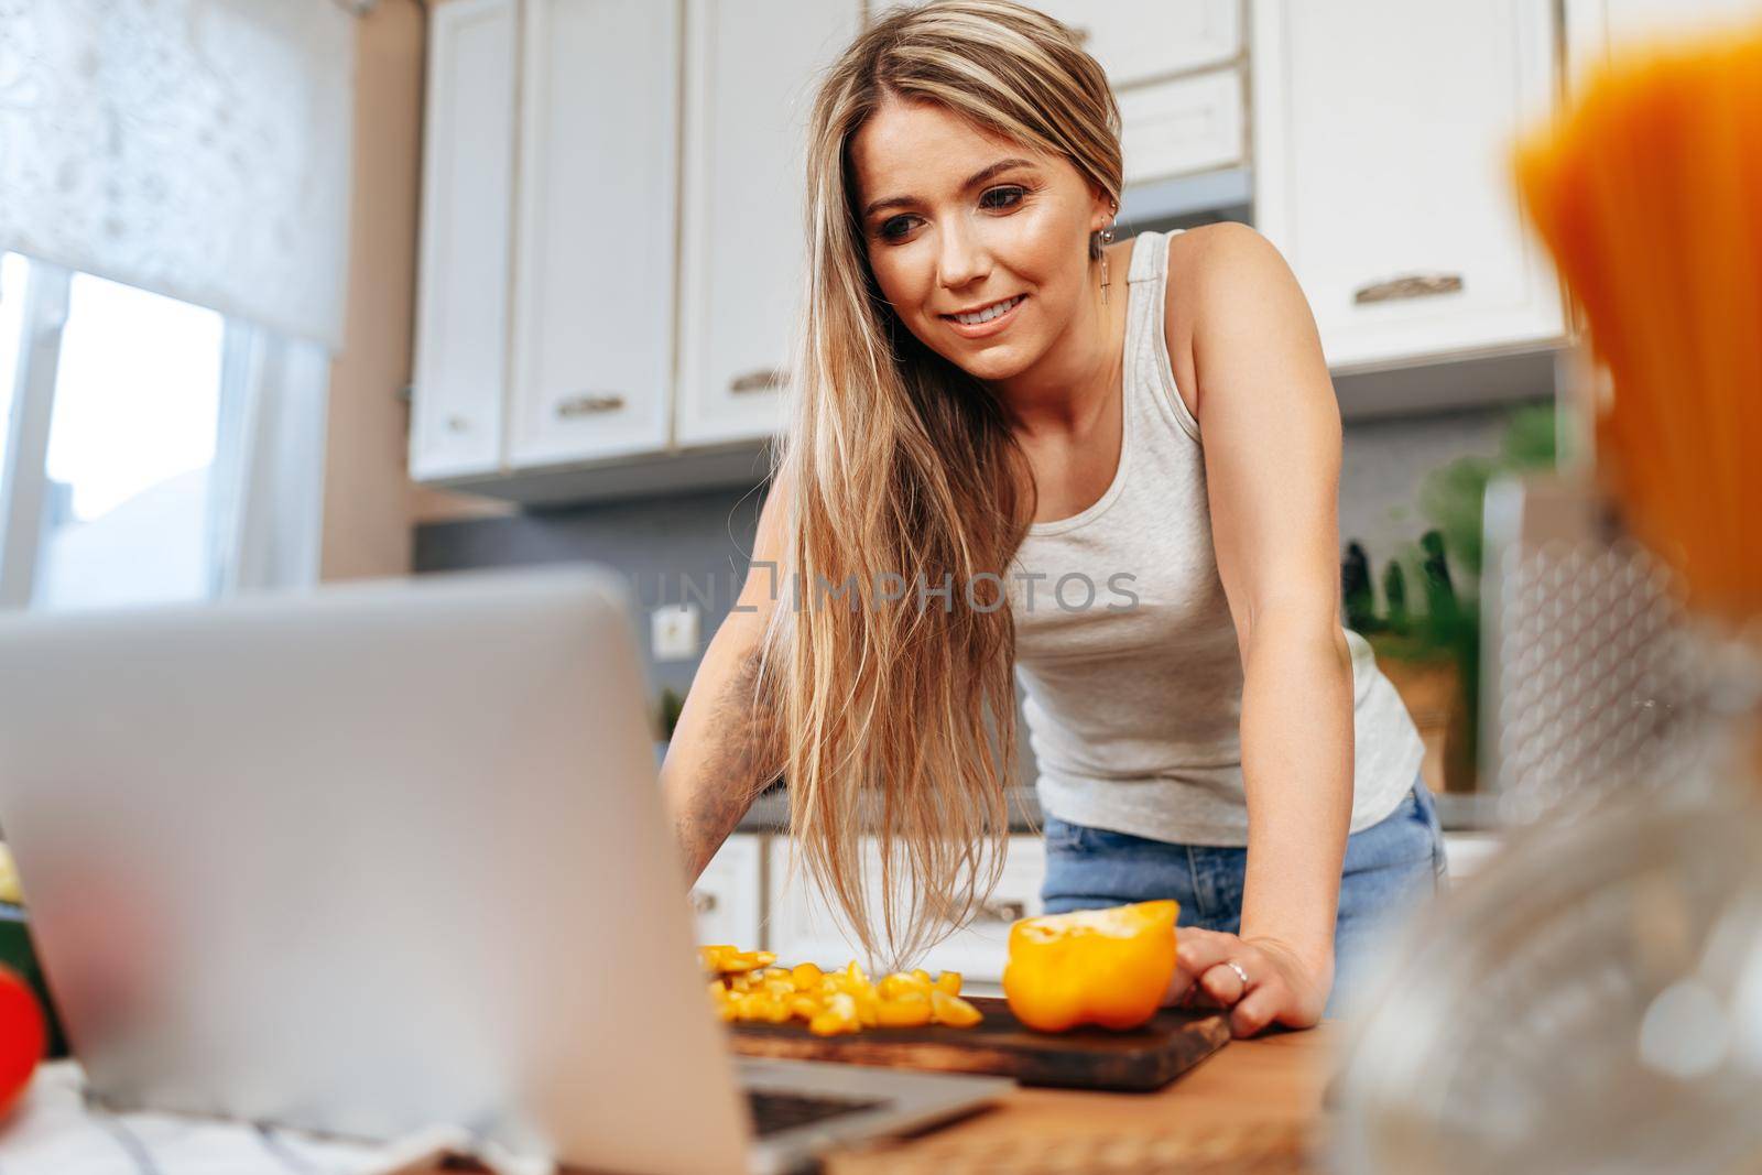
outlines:
M0 604L113 608L222 590L250 366L226 358L252 338L201 307L0 257Z

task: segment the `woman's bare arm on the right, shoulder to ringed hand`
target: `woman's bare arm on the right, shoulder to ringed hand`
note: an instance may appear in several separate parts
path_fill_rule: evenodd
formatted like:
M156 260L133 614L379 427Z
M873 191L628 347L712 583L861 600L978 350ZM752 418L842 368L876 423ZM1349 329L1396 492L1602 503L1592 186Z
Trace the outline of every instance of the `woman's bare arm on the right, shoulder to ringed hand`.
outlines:
M1247 877L1240 937L1182 932L1175 990L1198 983L1249 1036L1316 1024L1334 981L1353 779L1341 426L1309 303L1263 236L1207 229L1182 285L1212 543L1242 654Z

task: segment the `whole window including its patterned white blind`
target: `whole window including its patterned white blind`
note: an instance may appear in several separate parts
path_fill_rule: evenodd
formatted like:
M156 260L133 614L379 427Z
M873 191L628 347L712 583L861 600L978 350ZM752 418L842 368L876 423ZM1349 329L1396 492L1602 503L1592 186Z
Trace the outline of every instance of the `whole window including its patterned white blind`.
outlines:
M0 608L310 587L354 18L0 12Z

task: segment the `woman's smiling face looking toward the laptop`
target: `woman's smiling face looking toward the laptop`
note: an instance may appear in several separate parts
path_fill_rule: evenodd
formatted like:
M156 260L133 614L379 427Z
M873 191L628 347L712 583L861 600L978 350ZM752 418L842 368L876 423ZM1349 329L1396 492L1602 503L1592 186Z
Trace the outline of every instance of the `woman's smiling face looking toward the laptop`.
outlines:
M893 99L853 136L851 169L881 294L930 351L1006 381L1077 319L1110 217L1068 160Z

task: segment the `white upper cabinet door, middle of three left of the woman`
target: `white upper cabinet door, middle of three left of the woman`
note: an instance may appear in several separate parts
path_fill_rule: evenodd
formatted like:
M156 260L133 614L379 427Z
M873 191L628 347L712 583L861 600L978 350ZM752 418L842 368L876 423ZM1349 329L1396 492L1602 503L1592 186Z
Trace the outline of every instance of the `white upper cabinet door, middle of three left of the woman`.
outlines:
M509 465L666 446L678 0L527 0Z

